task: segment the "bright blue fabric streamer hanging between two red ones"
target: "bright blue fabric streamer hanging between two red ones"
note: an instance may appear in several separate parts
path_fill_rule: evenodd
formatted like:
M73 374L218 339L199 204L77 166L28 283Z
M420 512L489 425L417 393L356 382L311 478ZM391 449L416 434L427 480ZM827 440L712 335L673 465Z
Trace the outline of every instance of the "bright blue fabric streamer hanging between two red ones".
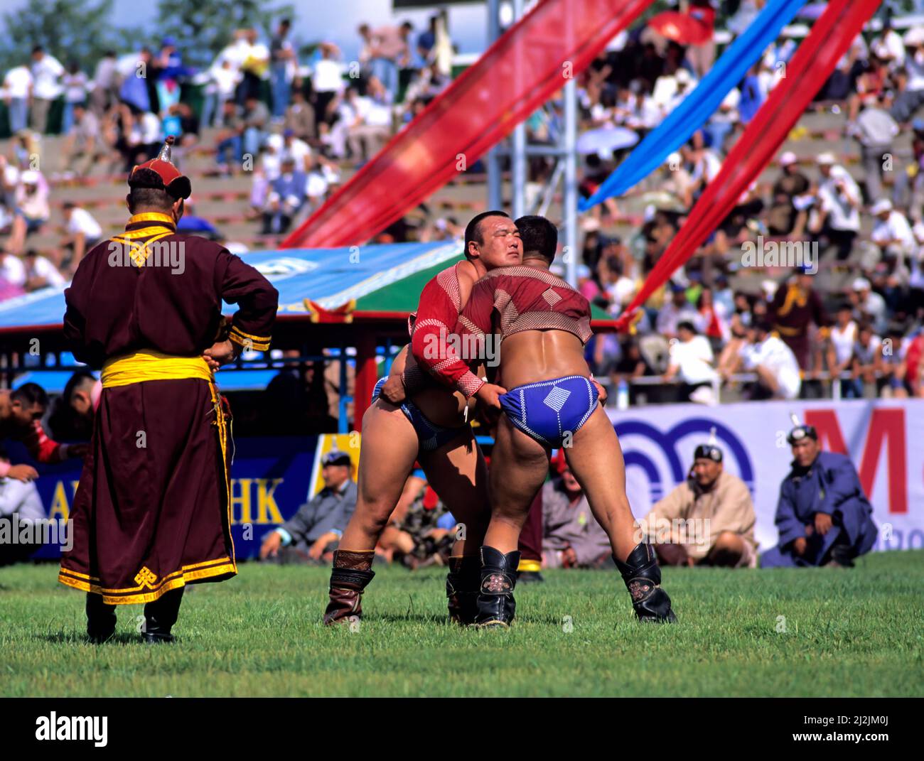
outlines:
M696 90L651 130L596 193L589 199L581 199L577 209L587 211L606 199L622 195L661 166L715 113L728 92L744 79L748 69L760 60L767 46L803 5L805 0L770 0L760 16L728 46Z

